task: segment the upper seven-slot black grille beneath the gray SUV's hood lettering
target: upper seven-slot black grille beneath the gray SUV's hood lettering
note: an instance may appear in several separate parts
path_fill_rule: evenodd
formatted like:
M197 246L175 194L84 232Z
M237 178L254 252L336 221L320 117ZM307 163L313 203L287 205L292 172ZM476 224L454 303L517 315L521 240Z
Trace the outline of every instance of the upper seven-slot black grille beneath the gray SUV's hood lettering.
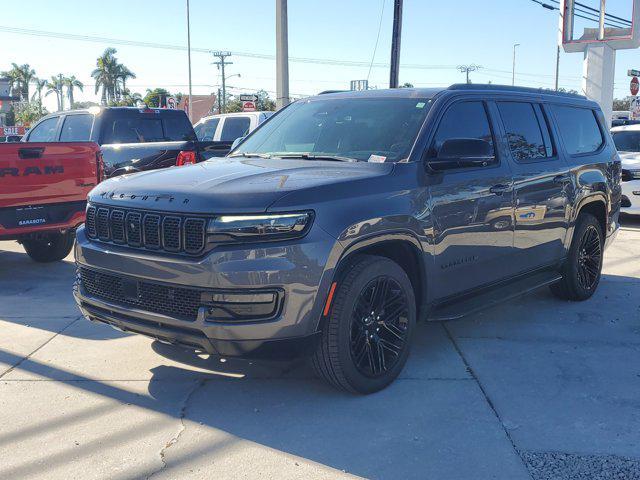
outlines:
M204 250L206 229L205 218L95 205L87 209L89 238L135 248L197 255Z

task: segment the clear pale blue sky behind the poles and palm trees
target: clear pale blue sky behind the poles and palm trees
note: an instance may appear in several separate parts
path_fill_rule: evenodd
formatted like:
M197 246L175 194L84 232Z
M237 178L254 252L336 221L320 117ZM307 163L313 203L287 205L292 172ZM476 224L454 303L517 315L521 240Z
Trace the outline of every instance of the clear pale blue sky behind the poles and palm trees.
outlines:
M584 0L588 2L589 0ZM631 0L609 0L624 4ZM552 3L549 1L549 3ZM29 0L28 8L5 9L0 16L0 70L11 62L29 63L40 77L63 73L86 84L80 100L95 100L90 72L108 46L137 74L133 91L152 87L187 91L186 53L176 50L80 42L1 31L2 27L47 30L123 40L186 45L185 0ZM348 88L349 80L366 78L383 0L289 0L291 57L365 62L363 66L291 62L290 90L309 95L325 89ZM386 63L390 51L393 0L386 0L375 61ZM476 63L474 82L511 83L512 46L520 43L516 83L552 87L558 13L531 0L405 0L401 82L443 86L464 80L456 66ZM275 0L191 0L193 47L275 54ZM640 68L637 50L619 51L616 96L628 92L628 68ZM227 75L233 93L259 88L275 90L275 62L235 55ZM195 94L217 90L219 73L213 58L193 53ZM415 68L412 66L420 66ZM425 67L426 66L426 67ZM582 54L562 53L560 84L580 87ZM388 69L374 67L371 85L385 87ZM48 97L48 105L53 98Z

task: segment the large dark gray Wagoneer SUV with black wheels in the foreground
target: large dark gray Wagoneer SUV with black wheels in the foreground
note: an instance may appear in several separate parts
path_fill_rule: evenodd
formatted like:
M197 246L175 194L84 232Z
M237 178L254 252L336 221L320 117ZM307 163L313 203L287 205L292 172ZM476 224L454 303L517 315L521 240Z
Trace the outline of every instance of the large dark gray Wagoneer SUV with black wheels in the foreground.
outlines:
M309 355L374 392L417 320L546 285L594 293L621 197L606 124L584 97L491 85L306 98L227 158L97 186L75 297L121 330Z

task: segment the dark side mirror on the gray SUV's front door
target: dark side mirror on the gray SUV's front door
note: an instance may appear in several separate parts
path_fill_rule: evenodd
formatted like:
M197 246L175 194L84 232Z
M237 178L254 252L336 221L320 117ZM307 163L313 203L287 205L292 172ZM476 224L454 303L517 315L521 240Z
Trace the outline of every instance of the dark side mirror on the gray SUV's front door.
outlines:
M450 138L438 149L435 158L428 160L433 170L465 167L486 167L496 161L492 145L479 138Z

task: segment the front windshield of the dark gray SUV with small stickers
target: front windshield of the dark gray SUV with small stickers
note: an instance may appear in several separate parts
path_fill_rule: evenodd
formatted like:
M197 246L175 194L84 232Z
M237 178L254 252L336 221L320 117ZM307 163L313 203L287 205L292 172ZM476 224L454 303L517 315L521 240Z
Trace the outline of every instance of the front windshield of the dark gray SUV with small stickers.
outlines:
M247 138L232 156L397 162L409 155L429 105L420 98L300 100Z

